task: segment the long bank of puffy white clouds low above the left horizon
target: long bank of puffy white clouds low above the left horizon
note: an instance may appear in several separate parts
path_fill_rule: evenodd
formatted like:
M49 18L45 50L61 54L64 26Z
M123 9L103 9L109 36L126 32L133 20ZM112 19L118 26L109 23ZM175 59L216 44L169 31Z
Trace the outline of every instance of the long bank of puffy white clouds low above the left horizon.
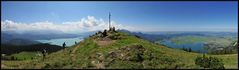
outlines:
M112 25L119 29L133 30L133 27L118 24L112 21ZM87 16L75 22L53 23L49 21L35 23L19 23L12 20L1 21L2 31L39 31L54 30L65 33L87 32L95 30L104 30L108 28L107 21L96 19L94 16Z

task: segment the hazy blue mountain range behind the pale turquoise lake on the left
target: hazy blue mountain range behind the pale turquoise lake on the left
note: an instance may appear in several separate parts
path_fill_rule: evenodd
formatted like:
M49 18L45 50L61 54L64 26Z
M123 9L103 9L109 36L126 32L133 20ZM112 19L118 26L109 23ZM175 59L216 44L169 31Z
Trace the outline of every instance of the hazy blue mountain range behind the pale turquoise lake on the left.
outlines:
M11 45L32 45L38 44L40 42L35 40L48 40L57 38L74 38L82 36L80 34L66 34L62 32L52 32L52 31L40 31L40 32L1 32L1 44L11 44Z

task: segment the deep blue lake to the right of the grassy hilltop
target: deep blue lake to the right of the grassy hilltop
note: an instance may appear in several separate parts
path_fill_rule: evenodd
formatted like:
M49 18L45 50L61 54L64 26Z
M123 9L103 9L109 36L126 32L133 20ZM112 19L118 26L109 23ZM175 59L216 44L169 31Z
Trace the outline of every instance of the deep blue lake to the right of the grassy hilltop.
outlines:
M176 44L170 40L163 40L160 43L171 48L177 48L177 49L191 48L192 51L195 51L195 52L207 53L207 51L204 49L204 43L202 42L197 42L192 44Z

